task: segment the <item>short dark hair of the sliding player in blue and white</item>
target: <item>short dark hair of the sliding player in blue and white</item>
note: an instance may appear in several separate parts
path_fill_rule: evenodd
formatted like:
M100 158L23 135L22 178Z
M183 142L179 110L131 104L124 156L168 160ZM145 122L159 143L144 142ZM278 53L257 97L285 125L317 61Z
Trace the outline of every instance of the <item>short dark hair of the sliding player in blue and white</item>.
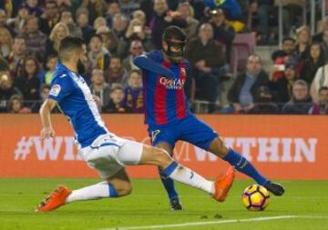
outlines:
M59 45L59 60L68 60L71 57L72 52L77 52L85 45L85 41L82 38L76 36L67 36L61 40Z

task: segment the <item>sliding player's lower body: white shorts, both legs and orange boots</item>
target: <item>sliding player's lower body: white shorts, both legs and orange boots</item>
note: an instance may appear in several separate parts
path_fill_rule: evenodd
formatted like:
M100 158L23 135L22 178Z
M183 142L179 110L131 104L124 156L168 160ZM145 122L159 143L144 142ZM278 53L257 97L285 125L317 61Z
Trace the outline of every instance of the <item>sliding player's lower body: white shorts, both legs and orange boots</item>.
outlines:
M85 151L82 151L82 155L87 161L87 165L96 169L103 179L108 179L97 185L90 185L74 191L60 185L37 205L36 212L52 211L76 201L129 195L131 184L124 165L157 165L163 175L185 185L199 188L220 202L225 200L233 183L232 167L226 175L211 182L189 168L179 165L164 150L124 140L117 136L100 136L92 146L92 148L87 147Z

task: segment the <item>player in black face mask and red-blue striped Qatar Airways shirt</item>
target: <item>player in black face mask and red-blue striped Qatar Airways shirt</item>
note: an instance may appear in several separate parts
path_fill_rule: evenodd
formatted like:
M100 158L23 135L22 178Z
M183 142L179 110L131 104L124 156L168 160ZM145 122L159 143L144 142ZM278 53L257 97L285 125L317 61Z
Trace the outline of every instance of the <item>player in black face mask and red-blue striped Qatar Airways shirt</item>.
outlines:
M282 195L282 185L261 175L241 154L224 145L219 135L190 112L184 85L190 77L190 63L183 58L186 35L177 26L169 26L162 38L162 49L139 55L134 64L143 70L145 116L152 145L173 154L181 140L196 145L230 163L236 170L251 176L274 195ZM161 175L173 210L181 210L174 183Z

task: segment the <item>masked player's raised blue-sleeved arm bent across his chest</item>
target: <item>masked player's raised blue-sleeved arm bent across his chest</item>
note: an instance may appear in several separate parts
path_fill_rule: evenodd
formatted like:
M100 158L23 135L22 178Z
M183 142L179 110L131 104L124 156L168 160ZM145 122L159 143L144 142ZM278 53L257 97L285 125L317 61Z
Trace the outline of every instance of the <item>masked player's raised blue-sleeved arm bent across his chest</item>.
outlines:
M150 59L147 55L138 55L134 61L134 65L137 65L140 69L149 70L155 72L158 75L163 75L169 79L175 78L175 75L168 68L160 65L158 62Z

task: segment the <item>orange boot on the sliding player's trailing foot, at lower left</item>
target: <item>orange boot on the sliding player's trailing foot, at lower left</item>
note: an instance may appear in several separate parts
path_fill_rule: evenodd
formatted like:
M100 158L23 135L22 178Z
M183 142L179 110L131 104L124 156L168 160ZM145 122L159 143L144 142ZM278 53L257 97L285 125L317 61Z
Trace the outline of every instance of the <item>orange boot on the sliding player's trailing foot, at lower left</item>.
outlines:
M36 207L36 212L49 212L61 205L66 204L67 196L70 195L70 191L66 186L58 186L49 196L46 197L39 205Z

